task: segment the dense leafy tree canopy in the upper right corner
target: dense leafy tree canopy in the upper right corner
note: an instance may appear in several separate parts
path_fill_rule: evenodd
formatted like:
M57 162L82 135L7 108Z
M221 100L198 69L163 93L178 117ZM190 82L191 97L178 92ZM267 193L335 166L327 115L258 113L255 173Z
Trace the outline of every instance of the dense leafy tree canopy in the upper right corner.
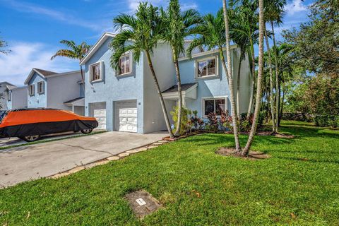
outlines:
M310 21L283 31L295 46L295 62L311 73L339 78L339 1L317 0L310 6Z

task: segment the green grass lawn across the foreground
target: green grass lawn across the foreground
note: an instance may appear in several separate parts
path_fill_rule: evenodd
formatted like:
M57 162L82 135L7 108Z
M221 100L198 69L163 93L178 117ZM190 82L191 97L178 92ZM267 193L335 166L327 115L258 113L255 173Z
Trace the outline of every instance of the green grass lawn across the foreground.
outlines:
M232 135L203 134L0 190L0 225L339 225L339 131L281 131L297 137L256 136L268 160L215 155ZM138 220L124 200L138 189L165 208Z

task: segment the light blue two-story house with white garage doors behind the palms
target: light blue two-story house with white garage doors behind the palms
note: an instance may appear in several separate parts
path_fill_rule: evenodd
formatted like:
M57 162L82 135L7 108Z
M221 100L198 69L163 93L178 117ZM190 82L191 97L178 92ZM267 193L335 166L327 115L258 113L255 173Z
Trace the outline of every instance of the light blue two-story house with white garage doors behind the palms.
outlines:
M105 32L81 61L81 65L85 65L85 115L96 117L99 128L108 131L150 133L165 130L159 96L145 54L135 62L132 53L126 52L121 57L121 73L118 73L110 66L112 50L109 43L113 38L114 34ZM238 49L233 46L235 77L238 54ZM152 60L169 113L177 105L175 69L169 45L158 43ZM220 109L230 109L230 92L218 52L198 52L192 55L192 59L181 57L179 66L186 107L198 110L199 117L208 112L218 114ZM246 112L250 83L248 59L243 62L242 69L241 111Z

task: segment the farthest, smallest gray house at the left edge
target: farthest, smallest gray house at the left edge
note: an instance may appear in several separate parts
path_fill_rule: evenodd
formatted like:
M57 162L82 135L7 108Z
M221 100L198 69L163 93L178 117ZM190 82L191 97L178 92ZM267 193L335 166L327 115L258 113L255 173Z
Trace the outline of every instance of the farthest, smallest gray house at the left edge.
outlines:
M27 108L27 86L8 88L7 107L8 109Z

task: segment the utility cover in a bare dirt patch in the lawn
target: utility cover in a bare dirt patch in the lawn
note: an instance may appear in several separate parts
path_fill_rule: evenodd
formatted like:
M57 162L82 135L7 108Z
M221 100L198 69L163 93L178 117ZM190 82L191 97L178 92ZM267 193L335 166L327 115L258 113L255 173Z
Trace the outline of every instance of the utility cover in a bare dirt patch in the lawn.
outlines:
M136 213L136 216L141 219L162 207L159 201L147 191L133 191L126 194L125 197L129 201L129 205L134 213Z

